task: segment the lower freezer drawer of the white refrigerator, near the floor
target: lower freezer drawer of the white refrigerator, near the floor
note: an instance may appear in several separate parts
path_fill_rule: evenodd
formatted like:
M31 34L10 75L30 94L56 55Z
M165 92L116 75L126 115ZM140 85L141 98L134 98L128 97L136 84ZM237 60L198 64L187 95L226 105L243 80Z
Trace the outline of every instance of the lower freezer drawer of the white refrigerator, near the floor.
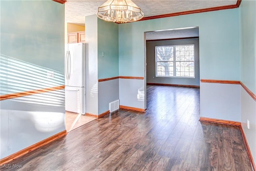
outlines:
M85 113L84 87L65 86L65 110Z

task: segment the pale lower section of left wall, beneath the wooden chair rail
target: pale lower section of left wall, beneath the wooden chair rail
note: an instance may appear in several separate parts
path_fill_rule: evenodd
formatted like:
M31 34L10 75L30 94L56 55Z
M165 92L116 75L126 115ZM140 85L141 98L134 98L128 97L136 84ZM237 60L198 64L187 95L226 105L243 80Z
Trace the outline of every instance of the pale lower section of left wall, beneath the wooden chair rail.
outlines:
M64 90L2 100L0 159L64 131L64 102Z

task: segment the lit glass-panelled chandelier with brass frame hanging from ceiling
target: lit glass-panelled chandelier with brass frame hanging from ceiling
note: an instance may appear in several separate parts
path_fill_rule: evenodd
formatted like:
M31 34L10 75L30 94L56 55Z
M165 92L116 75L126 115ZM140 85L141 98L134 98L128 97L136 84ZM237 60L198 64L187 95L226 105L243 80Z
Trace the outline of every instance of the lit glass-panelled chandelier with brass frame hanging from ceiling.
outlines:
M144 12L131 0L108 0L98 8L97 17L109 22L135 22L144 16Z

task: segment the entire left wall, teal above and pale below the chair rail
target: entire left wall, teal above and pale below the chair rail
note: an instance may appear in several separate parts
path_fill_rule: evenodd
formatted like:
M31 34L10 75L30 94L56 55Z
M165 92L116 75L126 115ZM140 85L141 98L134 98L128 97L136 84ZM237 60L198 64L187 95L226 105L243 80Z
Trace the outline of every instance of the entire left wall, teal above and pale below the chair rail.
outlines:
M0 1L1 93L64 85L64 5ZM54 79L47 71L54 71ZM64 90L1 101L0 158L65 130Z

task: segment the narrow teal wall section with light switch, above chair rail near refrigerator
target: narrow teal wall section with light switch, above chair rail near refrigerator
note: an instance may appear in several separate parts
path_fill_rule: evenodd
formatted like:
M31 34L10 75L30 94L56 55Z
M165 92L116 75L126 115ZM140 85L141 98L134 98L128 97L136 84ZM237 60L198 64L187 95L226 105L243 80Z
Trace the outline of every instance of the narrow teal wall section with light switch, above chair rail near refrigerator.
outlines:
M98 79L118 76L118 68L118 24L98 19Z

